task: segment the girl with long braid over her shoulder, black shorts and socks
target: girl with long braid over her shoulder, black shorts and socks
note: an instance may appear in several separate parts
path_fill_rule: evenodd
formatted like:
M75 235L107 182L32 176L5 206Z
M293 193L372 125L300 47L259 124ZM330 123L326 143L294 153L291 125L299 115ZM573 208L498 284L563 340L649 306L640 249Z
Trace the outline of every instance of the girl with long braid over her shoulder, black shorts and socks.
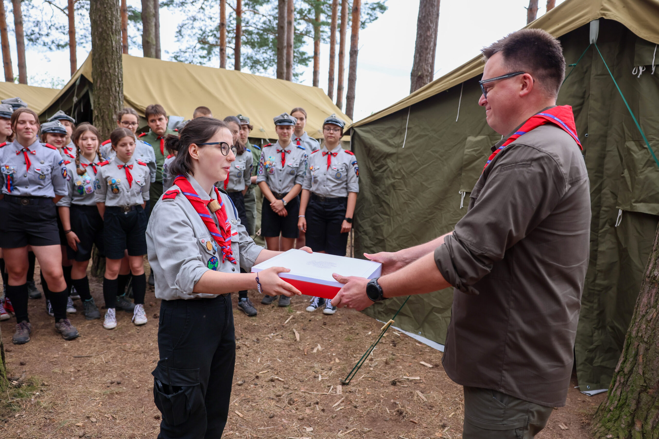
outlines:
M67 164L69 189L57 206L64 227L67 255L73 261L71 284L80 294L87 320L100 319L94 298L90 294L87 266L92 257L92 245L103 254L103 219L98 213L94 192L98 189L96 174L101 168L98 153L100 134L90 124L80 124L73 133L76 159Z

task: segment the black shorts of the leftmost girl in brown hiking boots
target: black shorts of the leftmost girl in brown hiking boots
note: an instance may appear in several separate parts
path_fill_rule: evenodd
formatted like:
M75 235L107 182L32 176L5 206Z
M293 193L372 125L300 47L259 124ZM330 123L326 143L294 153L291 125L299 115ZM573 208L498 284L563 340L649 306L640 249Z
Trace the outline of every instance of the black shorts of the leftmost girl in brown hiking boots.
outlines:
M12 203L9 201L10 197L11 195L5 195L0 200L1 248L60 244L57 206L51 198L22 197L34 203L22 205Z

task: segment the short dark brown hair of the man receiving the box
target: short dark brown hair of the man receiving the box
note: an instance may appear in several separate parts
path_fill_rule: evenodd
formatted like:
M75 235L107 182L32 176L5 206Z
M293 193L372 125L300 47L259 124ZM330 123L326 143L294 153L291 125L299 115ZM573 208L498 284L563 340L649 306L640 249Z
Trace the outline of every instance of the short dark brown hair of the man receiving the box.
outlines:
M556 97L565 78L565 58L558 39L542 29L522 29L481 50L485 61L501 52L510 72L532 74L538 85ZM487 78L484 78L487 79Z

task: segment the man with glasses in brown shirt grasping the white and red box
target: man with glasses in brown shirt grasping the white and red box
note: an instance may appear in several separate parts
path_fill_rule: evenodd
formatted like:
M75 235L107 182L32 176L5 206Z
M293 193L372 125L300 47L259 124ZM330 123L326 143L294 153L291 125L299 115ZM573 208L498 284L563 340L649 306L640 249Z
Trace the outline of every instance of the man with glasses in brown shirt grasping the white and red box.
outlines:
M588 174L559 41L523 29L482 51L488 125L501 134L455 230L395 253L378 279L345 278L333 299L364 309L453 286L442 362L464 386L463 438L533 438L565 405L588 266ZM413 219L410 219L413 221Z

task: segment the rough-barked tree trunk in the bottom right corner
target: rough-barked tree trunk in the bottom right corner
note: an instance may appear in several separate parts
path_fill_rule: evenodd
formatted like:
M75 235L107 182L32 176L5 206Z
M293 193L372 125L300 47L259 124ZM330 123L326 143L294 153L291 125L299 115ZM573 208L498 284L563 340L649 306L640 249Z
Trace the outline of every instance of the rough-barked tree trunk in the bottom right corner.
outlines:
M595 438L659 438L659 228Z

